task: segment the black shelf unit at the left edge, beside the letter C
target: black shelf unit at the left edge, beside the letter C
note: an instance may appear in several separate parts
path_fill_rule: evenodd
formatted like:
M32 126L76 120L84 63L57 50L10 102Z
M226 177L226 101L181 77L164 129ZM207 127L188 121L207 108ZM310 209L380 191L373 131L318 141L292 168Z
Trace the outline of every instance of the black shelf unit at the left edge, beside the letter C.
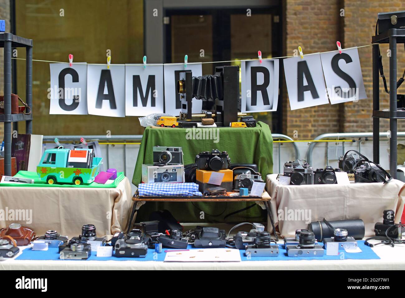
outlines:
M4 174L11 175L11 123L26 121L26 133L32 133L32 113L30 115L11 114L11 48L26 48L26 103L32 111L32 39L11 33L0 34L0 47L4 48Z

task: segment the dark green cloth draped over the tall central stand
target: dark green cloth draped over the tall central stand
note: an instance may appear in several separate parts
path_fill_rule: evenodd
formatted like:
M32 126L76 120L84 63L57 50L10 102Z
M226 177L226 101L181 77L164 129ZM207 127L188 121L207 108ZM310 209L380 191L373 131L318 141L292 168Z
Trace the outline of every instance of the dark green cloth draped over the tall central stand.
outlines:
M209 133L207 133L209 132ZM203 136L211 139L202 139ZM153 163L153 146L182 147L184 165L194 163L196 154L218 149L229 154L231 163L256 163L262 178L273 173L273 138L267 124L258 121L256 127L248 128L151 128L143 133L132 183L141 183L142 164ZM264 221L265 211L254 206L246 211L224 217L234 211L251 206L252 202L147 202L137 214L136 221L149 220L149 214L156 210L169 210L181 222L233 222ZM204 218L201 214L204 212Z

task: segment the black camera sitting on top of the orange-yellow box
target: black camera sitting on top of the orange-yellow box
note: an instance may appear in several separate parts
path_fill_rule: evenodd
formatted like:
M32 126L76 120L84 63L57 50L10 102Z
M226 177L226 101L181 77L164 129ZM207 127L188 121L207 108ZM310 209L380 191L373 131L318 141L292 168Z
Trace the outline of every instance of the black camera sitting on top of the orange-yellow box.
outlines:
M197 169L220 171L228 169L230 158L226 151L213 149L211 152L204 151L196 155Z

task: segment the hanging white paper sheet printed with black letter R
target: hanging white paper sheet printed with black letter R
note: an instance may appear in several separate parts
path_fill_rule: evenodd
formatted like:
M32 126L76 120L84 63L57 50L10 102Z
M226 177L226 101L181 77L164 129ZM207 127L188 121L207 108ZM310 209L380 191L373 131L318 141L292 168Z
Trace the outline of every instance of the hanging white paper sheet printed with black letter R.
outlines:
M277 111L279 60L242 60L241 112Z

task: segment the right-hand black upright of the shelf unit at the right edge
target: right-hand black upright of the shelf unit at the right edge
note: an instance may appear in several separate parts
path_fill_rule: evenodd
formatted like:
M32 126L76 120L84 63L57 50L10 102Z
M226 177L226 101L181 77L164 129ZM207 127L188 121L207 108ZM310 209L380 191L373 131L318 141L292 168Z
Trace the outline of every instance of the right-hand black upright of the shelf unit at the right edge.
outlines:
M390 36L390 174L396 179L396 37Z

